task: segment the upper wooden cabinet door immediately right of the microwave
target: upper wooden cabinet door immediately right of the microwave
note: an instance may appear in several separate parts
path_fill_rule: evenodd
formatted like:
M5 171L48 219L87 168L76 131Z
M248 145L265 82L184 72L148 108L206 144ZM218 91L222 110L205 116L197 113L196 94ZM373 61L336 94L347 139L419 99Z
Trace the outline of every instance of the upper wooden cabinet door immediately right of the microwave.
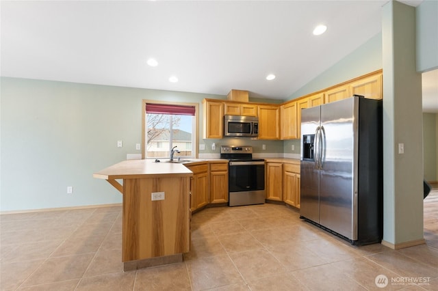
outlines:
M280 139L278 106L259 105L259 139Z

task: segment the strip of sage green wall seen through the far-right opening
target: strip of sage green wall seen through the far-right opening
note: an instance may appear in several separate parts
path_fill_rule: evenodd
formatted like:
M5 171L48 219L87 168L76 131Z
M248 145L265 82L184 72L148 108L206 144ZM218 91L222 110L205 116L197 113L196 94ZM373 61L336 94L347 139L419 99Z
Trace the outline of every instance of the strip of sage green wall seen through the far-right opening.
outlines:
M428 182L438 181L438 128L437 114L423 113L423 169L424 179Z

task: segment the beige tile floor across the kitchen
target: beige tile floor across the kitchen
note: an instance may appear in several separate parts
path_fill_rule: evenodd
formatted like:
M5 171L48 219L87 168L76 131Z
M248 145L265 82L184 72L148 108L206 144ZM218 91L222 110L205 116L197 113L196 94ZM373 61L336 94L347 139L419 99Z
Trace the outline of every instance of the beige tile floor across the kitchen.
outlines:
M286 206L207 208L192 217L184 262L124 273L121 207L1 215L0 288L381 290L385 275L387 290L438 290L436 189L424 217L427 244L394 251L353 247Z

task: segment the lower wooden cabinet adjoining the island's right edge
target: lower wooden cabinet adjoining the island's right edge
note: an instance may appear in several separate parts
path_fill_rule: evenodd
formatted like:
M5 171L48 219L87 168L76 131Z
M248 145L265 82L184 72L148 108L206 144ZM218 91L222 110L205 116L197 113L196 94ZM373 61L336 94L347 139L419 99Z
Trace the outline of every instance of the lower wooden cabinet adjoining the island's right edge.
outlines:
M190 180L190 210L196 210L209 204L208 164L186 165L193 172Z

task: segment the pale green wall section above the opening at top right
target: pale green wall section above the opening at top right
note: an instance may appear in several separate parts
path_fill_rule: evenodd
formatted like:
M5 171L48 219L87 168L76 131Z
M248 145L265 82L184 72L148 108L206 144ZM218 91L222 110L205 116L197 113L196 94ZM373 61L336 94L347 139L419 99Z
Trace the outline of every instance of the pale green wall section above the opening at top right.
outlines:
M438 68L438 1L422 1L416 10L417 72Z

